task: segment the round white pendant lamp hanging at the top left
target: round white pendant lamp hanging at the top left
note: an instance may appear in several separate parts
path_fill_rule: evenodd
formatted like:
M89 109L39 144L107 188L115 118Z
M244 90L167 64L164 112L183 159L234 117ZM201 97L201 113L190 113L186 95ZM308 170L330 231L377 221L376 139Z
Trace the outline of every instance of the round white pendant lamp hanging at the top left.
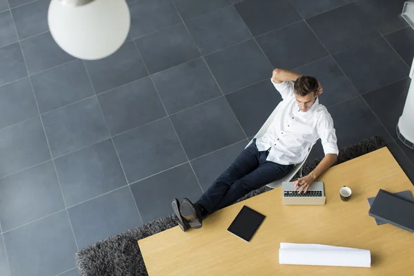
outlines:
M125 0L52 0L50 33L69 55L102 59L121 47L130 28Z

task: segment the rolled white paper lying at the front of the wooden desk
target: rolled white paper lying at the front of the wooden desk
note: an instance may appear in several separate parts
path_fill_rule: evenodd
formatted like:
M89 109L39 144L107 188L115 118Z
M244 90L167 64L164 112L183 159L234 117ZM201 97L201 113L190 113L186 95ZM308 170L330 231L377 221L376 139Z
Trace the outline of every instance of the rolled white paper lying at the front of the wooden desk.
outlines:
M371 252L322 244L281 243L279 264L371 267Z

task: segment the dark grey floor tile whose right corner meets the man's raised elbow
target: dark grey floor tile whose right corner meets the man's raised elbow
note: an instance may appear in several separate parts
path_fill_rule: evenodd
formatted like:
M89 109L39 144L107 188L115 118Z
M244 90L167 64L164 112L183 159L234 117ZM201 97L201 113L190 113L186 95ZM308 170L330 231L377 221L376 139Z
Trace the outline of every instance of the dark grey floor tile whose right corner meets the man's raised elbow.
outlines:
M272 66L253 39L214 52L205 59L224 94L272 75Z

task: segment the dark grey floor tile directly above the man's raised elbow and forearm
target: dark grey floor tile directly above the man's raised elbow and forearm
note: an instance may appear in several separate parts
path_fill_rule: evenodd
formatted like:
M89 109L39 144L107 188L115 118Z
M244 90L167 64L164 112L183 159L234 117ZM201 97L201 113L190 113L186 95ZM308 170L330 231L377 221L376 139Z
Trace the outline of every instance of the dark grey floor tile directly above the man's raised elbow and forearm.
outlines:
M257 37L257 43L276 68L295 68L328 55L304 21Z

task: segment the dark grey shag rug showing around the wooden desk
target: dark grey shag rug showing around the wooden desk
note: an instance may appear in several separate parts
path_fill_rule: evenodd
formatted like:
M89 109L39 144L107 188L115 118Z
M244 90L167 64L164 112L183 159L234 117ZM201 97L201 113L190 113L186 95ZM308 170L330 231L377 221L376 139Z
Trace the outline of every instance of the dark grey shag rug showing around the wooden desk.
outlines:
M380 138L371 137L353 146L342 148L339 150L337 164L384 146L386 144ZM311 172L322 158L306 161L303 174L307 175ZM267 186L253 190L238 201L265 193L268 190L271 189ZM148 273L137 241L174 226L177 226L175 216L169 215L83 248L76 254L79 273L82 276L147 276Z

